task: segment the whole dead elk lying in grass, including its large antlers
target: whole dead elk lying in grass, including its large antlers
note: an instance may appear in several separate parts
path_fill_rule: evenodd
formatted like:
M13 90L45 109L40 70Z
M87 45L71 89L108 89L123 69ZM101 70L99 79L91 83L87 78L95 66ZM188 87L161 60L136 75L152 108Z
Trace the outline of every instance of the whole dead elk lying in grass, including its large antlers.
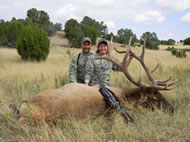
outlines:
M130 39L131 41L131 39ZM173 112L172 105L164 98L159 90L170 90L170 86L175 84L176 81L168 83L170 80L154 80L152 78L149 68L144 64L144 49L145 42L141 56L136 56L129 48L125 51L125 56L122 63L116 62L110 56L102 57L101 59L107 59L120 66L121 70L131 81L135 84L136 88L116 88L108 87L118 97L122 104L133 104L135 107L141 105L145 108L151 108L152 110L157 107L159 109L168 110ZM117 51L119 52L119 51ZM141 78L136 81L128 73L127 67L130 63L129 54L137 59L143 66L151 85L147 85L141 82ZM96 117L103 115L109 109L109 106L104 101L104 98L98 91L98 87L87 86L79 83L66 84L61 88L47 90L32 96L26 100L19 109L19 122L27 123L32 119L38 123L45 121L46 123L52 123L58 119L67 119L70 116L76 118L85 118L88 116Z

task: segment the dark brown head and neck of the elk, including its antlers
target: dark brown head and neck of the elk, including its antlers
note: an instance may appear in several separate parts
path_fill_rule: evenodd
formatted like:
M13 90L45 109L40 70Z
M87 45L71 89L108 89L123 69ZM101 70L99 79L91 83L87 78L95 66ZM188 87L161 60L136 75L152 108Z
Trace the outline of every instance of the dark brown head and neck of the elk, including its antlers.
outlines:
M145 108L151 108L152 110L154 110L154 107L156 106L157 108L163 109L164 111L173 112L173 106L164 98L164 96L159 91L167 91L173 89L171 88L171 86L174 85L177 80L170 81L171 77L169 77L167 80L153 79L152 73L158 68L159 63L155 66L153 70L150 70L144 63L146 38L147 36L145 36L144 45L140 56L137 56L134 52L132 52L130 48L132 37L130 37L128 48L126 51L118 51L115 48L115 51L117 53L125 53L121 63L112 58L112 56L110 55L110 51L108 52L108 56L98 57L97 59L106 59L111 61L113 64L119 66L127 79L138 87L127 91L125 97L128 101L132 100L136 103L136 105L141 105ZM130 75L130 73L128 72L128 66L133 58L140 62L151 84L145 84L142 82L142 74L140 75L138 81Z

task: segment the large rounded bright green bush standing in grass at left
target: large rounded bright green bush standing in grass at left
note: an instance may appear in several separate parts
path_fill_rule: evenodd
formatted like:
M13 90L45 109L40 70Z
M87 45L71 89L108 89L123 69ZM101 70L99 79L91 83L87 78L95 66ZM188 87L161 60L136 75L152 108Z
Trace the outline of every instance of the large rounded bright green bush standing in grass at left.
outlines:
M16 48L23 60L45 61L49 54L50 41L43 28L29 25L23 28Z

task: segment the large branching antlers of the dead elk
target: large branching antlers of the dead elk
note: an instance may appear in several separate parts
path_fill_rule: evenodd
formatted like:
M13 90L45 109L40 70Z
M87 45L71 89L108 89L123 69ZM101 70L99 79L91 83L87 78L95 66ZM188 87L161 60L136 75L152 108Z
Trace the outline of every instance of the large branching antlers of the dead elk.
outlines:
M169 81L171 80L171 77L169 77L167 80L154 80L153 77L152 77L152 74L159 66L159 63L157 63L157 65L155 66L155 68L153 70L150 70L144 63L144 54L145 54L145 46L146 46L146 39L147 39L147 35L145 36L145 39L144 39L144 44L143 44L143 48L142 48L142 52L141 52L141 55L140 56L137 56L135 53L133 53L131 51L131 40L132 40L132 37L130 37L129 39L129 44L128 44L128 48L126 51L118 51L116 48L115 51L118 52L118 53L125 53L125 56L123 58L123 61L122 63L119 63L117 62L116 60L114 60L111 55L110 55L110 51L109 51L109 54L108 56L104 56L104 57L97 57L96 59L106 59L106 60L109 60L111 61L113 64L116 64L117 66L119 66L122 70L122 72L125 74L125 76L128 78L129 81L131 81L133 84L135 84L136 86L138 87L152 87L152 88L155 88L157 90L171 90L173 88L168 88L172 85L174 85L176 83L177 80L173 81L173 82L170 82ZM111 40L111 43L112 43L112 40ZM110 47L111 48L111 47ZM129 58L128 58L129 57ZM148 84L145 84L145 83L142 83L141 82L141 76L139 78L138 81L136 81L135 79L133 79L133 77L129 74L128 72L128 66L132 60L132 57L134 57L135 59L137 59L143 69L145 70L146 74L147 74L147 77L148 79L152 82L151 85L148 85Z

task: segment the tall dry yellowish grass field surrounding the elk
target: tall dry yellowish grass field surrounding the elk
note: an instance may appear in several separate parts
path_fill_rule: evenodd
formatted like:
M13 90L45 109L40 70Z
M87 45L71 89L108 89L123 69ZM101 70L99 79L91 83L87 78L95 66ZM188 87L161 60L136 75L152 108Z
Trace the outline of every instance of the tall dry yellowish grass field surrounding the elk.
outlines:
M123 47L118 47L123 50ZM93 47L92 52L95 52ZM139 55L141 48L132 50ZM190 53L187 58L176 58L169 51L146 50L145 63L151 69L160 62L153 77L165 80L178 79L171 91L161 91L174 106L169 114L161 110L127 108L135 119L135 126L127 126L118 112L110 118L103 116L67 121L58 120L53 127L46 124L17 123L18 116L9 108L20 106L23 100L50 88L58 88L68 82L71 58L81 49L51 48L45 62L22 61L15 49L0 48L0 141L2 142L189 142L190 141ZM112 51L122 61L124 55ZM130 74L138 79L141 66L134 59ZM150 83L143 73L143 82ZM135 87L122 72L111 72L112 86Z

